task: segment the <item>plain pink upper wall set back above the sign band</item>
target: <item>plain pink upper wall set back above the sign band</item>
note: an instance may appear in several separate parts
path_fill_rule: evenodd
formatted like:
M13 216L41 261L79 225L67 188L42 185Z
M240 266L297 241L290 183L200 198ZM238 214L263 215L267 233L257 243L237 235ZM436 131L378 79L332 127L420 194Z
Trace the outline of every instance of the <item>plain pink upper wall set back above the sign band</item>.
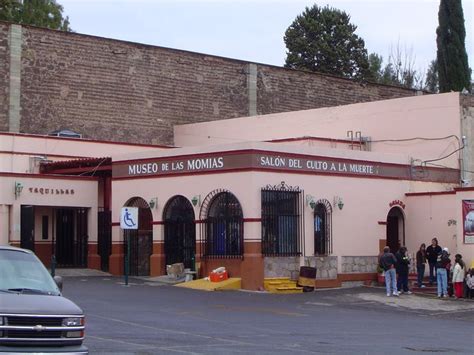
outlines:
M439 158L457 149L455 138L439 141L376 142L412 137L460 135L459 93L425 95L315 110L175 126L177 146L214 145L315 136L347 139L347 131L371 137L373 152L413 159ZM338 147L339 148L339 147ZM458 157L439 162L458 166Z

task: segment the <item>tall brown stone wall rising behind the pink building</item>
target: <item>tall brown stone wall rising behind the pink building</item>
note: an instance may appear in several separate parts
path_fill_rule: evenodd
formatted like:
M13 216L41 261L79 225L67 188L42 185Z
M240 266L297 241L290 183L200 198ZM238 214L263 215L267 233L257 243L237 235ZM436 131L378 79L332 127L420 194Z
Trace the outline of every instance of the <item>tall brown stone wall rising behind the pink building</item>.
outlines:
M0 130L9 24L0 22ZM415 95L414 90L23 26L20 132L173 144L172 126Z

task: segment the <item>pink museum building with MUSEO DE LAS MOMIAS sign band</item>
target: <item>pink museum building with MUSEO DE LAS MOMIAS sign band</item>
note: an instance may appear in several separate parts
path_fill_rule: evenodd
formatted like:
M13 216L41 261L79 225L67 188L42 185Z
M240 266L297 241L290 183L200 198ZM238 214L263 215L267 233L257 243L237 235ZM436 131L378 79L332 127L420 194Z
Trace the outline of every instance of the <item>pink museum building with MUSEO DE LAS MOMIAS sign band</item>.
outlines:
M201 276L226 266L246 289L302 265L318 268L321 287L370 280L383 246L414 253L434 236L470 264L473 115L463 100L450 93L175 126L173 149L2 135L2 144L15 141L2 148L1 170L12 166L1 173L2 242L23 244L21 206L37 206L35 250L50 250L38 253L45 262L63 250L73 259L84 248L64 245L58 233L72 227L58 220L70 216L57 210L74 206L75 226L87 222L87 266L113 274L123 273L124 240L134 275L162 275L174 262L199 265ZM61 154L43 149L53 146ZM79 155L89 159L71 160ZM55 162L24 173L35 156ZM124 207L138 208L137 230L121 228ZM42 240L48 213L56 229Z

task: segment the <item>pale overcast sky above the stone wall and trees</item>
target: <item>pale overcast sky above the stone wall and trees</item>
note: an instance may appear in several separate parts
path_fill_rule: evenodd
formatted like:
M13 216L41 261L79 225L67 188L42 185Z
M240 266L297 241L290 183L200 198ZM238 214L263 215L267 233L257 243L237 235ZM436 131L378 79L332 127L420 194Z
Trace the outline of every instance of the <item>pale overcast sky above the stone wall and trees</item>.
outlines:
M415 68L436 57L439 0L58 0L78 33L282 66L283 35L305 6L344 10L369 53L412 49ZM474 0L462 0L474 69Z

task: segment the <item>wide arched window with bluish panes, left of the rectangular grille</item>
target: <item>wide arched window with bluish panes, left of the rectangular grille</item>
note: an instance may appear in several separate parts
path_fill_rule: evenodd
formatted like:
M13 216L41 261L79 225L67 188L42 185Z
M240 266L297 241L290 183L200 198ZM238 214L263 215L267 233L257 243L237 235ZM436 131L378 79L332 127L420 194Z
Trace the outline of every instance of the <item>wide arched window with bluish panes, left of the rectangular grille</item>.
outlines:
M239 201L228 191L211 193L206 200L203 256L241 257L244 251L244 228Z

